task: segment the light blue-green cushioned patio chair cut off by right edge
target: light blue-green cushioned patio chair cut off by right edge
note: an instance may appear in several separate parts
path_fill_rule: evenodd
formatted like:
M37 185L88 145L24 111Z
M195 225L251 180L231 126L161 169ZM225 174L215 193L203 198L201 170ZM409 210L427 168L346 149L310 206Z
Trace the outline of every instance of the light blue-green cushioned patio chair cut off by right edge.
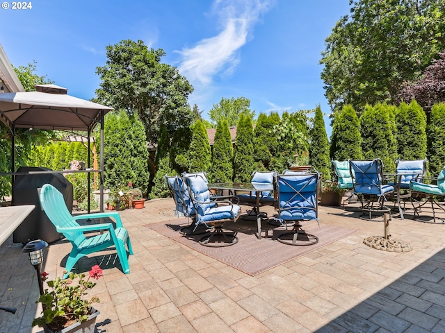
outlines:
M437 182L437 185L426 184L426 181ZM445 212L443 201L445 198L445 167L440 171L437 178L413 178L410 182L410 189L412 191L411 203L414 208L414 219L422 222L428 222L426 220L419 219L422 207L426 203L431 203L432 210L432 223L445 223L444 217L437 216L436 208ZM414 203L413 198L418 200ZM426 200L422 200L426 199Z

